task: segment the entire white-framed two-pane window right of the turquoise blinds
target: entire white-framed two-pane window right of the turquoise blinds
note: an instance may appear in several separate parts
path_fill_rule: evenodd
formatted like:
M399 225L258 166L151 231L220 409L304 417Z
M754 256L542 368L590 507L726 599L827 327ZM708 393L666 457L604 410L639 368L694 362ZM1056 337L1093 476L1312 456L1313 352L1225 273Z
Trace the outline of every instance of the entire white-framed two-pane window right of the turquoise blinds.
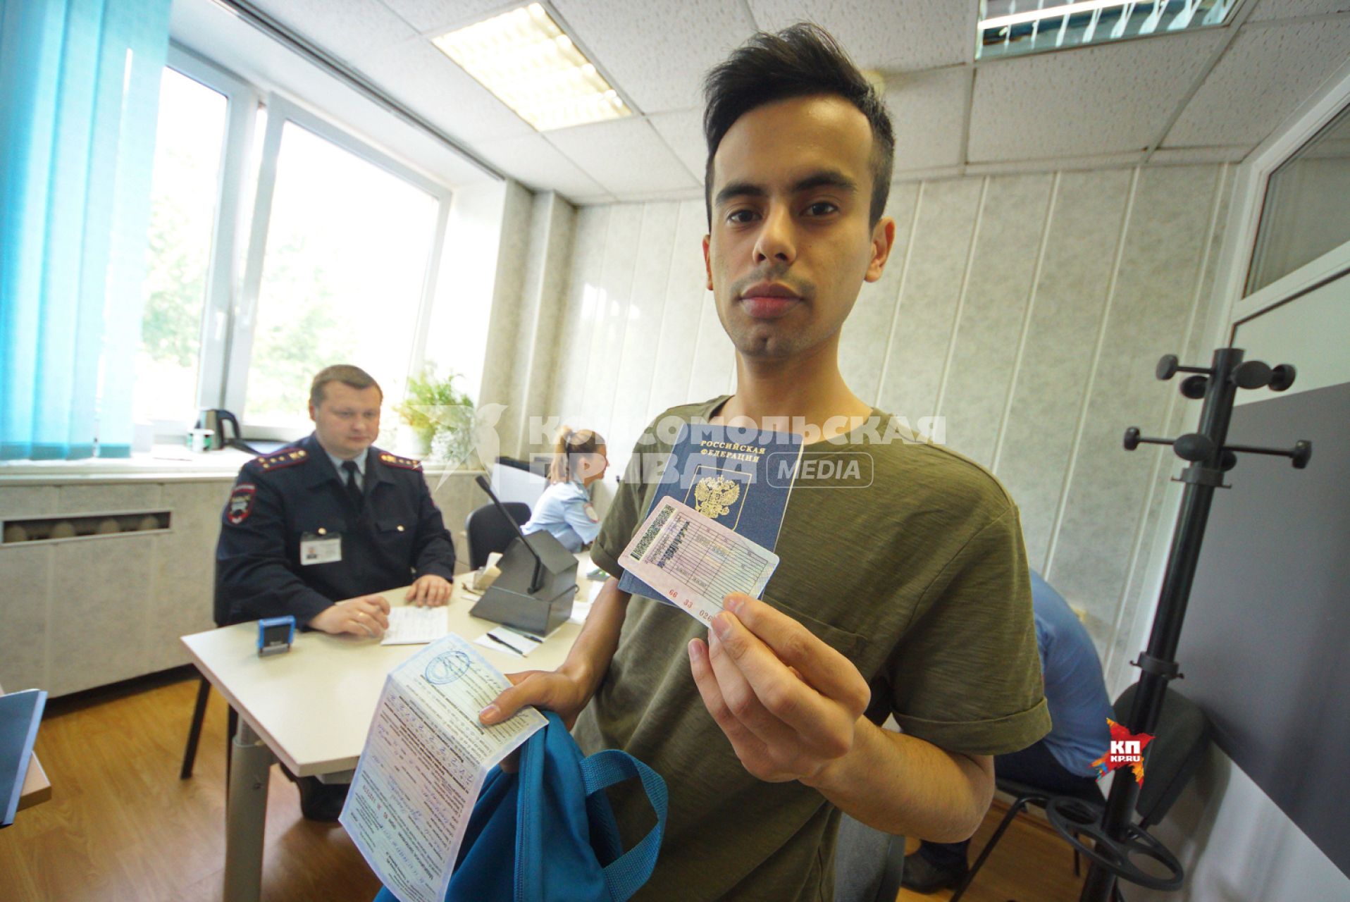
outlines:
M247 435L294 439L309 379L339 362L396 404L421 367L448 207L444 186L171 47L138 424L174 436L225 408Z

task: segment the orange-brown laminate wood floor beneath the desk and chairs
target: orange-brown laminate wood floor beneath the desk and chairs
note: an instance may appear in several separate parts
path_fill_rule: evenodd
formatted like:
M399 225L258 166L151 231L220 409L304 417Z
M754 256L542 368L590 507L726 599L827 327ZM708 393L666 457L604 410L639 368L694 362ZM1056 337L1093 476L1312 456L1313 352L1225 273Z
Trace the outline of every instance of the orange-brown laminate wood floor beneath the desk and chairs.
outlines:
M193 776L178 779L196 676L182 671L47 705L36 751L51 801L0 830L5 902L219 902L224 866L225 705L211 694ZM986 818L979 851L1002 810ZM1068 847L1021 818L967 899L1071 902ZM379 882L336 824L300 816L294 786L273 768L263 899L369 902ZM902 891L900 902L949 894Z

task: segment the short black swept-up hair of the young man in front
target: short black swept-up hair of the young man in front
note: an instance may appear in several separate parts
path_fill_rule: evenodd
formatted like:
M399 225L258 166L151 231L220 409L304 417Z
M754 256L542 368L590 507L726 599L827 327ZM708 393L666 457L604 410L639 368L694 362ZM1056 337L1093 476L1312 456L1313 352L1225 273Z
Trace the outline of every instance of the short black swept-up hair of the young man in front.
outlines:
M811 95L842 97L857 107L872 126L869 224L875 226L882 219L895 159L891 117L844 47L819 26L799 22L776 34L760 31L703 78L703 97L707 100L703 109L703 136L707 139L703 203L709 228L713 227L713 157L730 127L752 109Z

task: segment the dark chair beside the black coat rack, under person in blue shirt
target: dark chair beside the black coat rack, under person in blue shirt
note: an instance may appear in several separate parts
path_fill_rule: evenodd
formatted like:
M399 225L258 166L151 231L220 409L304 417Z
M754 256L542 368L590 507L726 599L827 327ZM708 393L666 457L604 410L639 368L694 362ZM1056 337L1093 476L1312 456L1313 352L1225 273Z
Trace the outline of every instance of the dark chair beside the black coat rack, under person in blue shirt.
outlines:
M1129 718L1137 687L1138 685L1130 686L1115 699L1112 709L1115 710L1118 724L1123 724ZM1168 694L1164 697L1162 713L1158 716L1156 731L1154 740L1145 748L1143 770L1148 779L1143 780L1139 798L1134 803L1134 810L1139 814L1139 826L1142 829L1148 829L1149 825L1162 820L1168 809L1172 807L1172 803L1177 801L1181 790L1195 776L1195 771L1200 767L1200 762L1204 760L1204 753L1210 747L1210 720L1195 702L1176 690L1168 690ZM1133 776L1129 771L1122 771L1116 774L1115 779L1133 779ZM950 902L959 902L965 895L965 890L969 888L975 880L975 875L984 867L990 852L1003 839L1003 833L1019 810L1027 805L1045 807L1053 799L1065 795L1064 793L1049 793L1044 789L1014 780L995 779L995 785L1000 791L1014 795L1015 801L1008 806L1007 814L1003 816L998 829L994 830L994 836L984 845L980 857L975 860L975 867L956 886ZM1087 778L1084 778L1083 790L1072 793L1069 797L1081 798L1098 806L1103 802L1102 790L1098 789L1094 780ZM1073 852L1073 874L1079 874L1077 851ZM1116 897L1119 898L1119 890L1116 891Z

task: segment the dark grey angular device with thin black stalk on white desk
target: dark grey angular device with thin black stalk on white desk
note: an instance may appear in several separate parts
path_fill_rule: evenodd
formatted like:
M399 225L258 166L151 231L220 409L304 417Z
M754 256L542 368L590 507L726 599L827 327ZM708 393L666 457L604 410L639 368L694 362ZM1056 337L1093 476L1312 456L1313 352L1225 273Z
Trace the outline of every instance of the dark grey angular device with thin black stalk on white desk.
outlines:
M513 629L547 636L572 616L576 558L548 532L526 536L497 500L487 479L478 477L478 485L516 531L516 537L497 562L501 575L468 613Z

